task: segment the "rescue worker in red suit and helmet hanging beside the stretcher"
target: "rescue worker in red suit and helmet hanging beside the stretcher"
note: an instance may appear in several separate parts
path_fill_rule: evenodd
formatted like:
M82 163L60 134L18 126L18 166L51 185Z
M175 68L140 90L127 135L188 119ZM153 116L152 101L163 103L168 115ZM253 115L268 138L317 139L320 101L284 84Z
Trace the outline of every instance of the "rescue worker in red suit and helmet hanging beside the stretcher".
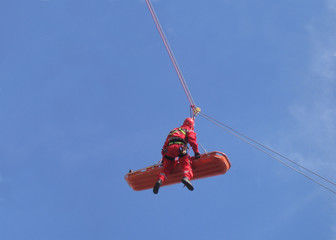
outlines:
M181 182L190 191L194 190L194 187L190 182L190 180L193 178L193 172L191 169L190 158L187 152L188 143L195 153L195 158L200 158L201 154L198 151L196 133L194 132L194 120L192 118L186 118L181 127L174 128L169 133L161 151L163 168L158 175L157 182L153 187L154 194L159 192L161 184L167 179L169 174L176 167L177 159L183 171L183 178Z

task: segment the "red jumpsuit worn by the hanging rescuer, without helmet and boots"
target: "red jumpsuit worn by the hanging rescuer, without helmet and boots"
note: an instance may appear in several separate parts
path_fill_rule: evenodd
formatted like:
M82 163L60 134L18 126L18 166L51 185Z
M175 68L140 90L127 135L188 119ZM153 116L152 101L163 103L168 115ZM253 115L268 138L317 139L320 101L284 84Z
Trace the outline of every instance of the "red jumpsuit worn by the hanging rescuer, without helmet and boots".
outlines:
M158 176L158 179L161 179L162 182L166 180L176 167L177 157L183 171L183 176L189 180L193 178L190 159L186 152L188 143L194 153L198 153L196 133L189 126L182 125L180 128L175 128L169 133L162 149L163 169ZM184 153L183 149L185 150Z

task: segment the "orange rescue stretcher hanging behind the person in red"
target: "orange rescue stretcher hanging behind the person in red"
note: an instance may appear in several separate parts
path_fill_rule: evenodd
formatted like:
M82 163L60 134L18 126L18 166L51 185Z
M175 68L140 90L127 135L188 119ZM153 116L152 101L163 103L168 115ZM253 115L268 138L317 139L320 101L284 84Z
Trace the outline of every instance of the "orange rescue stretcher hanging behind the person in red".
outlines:
M231 167L228 157L217 151L202 154L199 159L191 157L191 162L194 173L194 178L191 180L225 174ZM150 189L157 181L161 168L161 164L155 164L137 171L130 170L125 175L125 180L134 191ZM182 177L183 174L178 164L162 186L180 183Z

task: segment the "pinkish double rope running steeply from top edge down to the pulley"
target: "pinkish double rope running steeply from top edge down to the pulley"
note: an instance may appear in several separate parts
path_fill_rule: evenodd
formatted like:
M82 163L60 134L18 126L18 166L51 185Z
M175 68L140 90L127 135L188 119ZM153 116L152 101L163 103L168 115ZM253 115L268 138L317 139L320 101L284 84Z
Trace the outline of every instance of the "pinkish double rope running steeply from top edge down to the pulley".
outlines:
M163 43L164 43L164 45L166 47L166 50L167 50L168 55L169 55L169 58L170 58L170 60L172 61L173 65L174 65L175 71L176 71L176 73L178 75L178 78L179 78L181 84L182 84L184 92L187 95L188 101L190 103L190 107L193 108L195 106L194 99L191 96L191 93L189 91L187 83L185 82L184 77L182 75L181 69L179 68L179 66L177 64L177 61L176 61L176 59L174 57L173 51L171 50L171 48L169 46L168 40L167 40L167 38L166 38L163 30L162 30L161 24L160 24L159 19L158 19L157 15L156 15L156 13L154 11L152 3L150 2L150 0L146 0L146 3L147 3L147 6L149 8L149 11L150 11L150 13L151 13L151 15L153 17L153 20L154 20L154 23L156 25L156 28L158 29L158 31L160 33L160 36L161 36L161 39L162 39L162 41L163 41Z

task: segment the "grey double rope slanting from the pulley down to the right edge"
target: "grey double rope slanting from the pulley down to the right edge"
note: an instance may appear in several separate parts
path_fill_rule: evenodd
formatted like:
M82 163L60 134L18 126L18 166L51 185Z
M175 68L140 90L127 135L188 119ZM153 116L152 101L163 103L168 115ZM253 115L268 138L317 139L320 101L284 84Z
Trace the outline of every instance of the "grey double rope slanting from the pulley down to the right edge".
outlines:
M289 162L291 162L291 163L294 163L295 165L301 167L302 169L304 169L304 170L306 170L306 171L308 171L308 172L314 174L315 176L319 177L320 179L323 179L323 180L325 180L326 182L328 182L328 183L330 183L330 184L336 186L336 184L335 184L334 182L332 182L332 181L330 181L330 180L328 180L328 179L322 177L321 175L319 175L319 174L317 174L317 173L315 173L315 172L313 172L313 171L307 169L306 167L304 167L304 166L302 166L302 165L300 165L300 164L294 162L293 160L291 160L291 159L289 159L289 158L287 158L287 157L284 157L284 156L281 155L280 153L278 153L278 152L272 150L272 149L269 148L269 147L266 147L265 145L263 145L263 144L261 144L261 143L258 143L257 141L255 141L255 140L253 140L253 139L247 137L246 135L244 135L244 134L242 134L242 133L240 133L240 132L234 130L233 128L227 126L226 124L224 124L224 123L222 123L222 122L220 122L220 121L218 121L218 120L216 120L216 119L214 119L214 118L212 118L212 117L210 117L210 116L208 116L208 115L206 115L206 114L204 114L204 113L199 113L199 114L200 114L200 116L202 116L202 117L205 118L206 120L208 120L208 121L214 123L214 124L217 125L218 127L222 128L222 129L224 129L225 131L231 133L232 135L238 137L239 139L241 139L241 140L243 140L244 142L248 143L248 144L251 145L252 147L258 149L259 151L261 151L261 152L263 152L263 153L265 153L266 155L270 156L271 158L273 158L273 159L275 159L275 160L281 162L281 163L284 164L285 166L291 168L291 169L294 170L295 172L297 172L297 173L299 173L299 174L305 176L305 177L308 178L309 180L315 182L316 184L320 185L321 187L324 187L325 189L329 190L330 192L332 192L333 194L336 195L336 191L334 191L334 190L332 190L331 188L325 186L324 184L320 183L319 181L313 179L312 177L308 176L308 175L305 174L304 172L302 172L302 171L300 171L300 170L298 170L298 169L296 169L296 168L290 166L289 164L287 164L286 162L284 162L284 161L282 161L281 159L277 158L276 156L272 155L271 153L267 152L266 150L268 150L268 151L270 151L270 152L272 152L272 153L274 153L274 154L276 154L276 155L278 155L278 156L280 156L280 157L286 159L287 161L289 161ZM265 150L265 149L266 149L266 150Z

